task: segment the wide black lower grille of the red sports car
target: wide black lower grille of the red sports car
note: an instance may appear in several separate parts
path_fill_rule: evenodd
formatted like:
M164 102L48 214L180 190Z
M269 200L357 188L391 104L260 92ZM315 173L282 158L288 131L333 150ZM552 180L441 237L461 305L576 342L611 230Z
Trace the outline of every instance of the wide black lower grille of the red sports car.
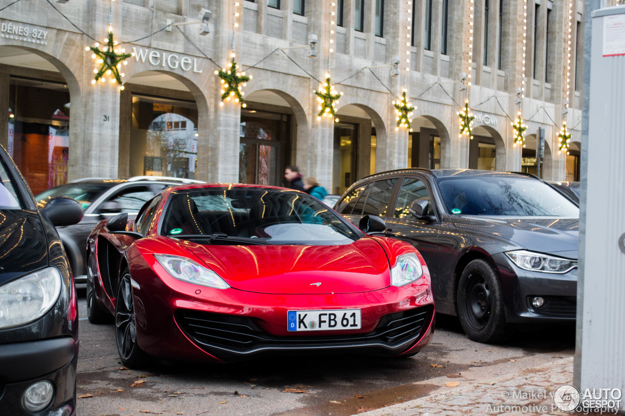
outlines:
M397 349L414 342L432 320L433 307L384 315L376 329L367 334L275 336L264 332L254 319L237 315L178 310L176 322L196 344L207 352L252 354L263 350L315 350L375 346ZM286 322L285 324L286 325Z

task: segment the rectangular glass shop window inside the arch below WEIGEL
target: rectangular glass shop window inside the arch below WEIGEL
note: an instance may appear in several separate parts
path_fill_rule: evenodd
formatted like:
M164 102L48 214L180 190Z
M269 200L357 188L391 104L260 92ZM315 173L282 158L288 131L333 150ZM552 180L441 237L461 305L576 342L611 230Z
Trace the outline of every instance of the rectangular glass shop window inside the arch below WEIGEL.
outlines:
M197 106L165 97L133 96L129 176L196 178Z

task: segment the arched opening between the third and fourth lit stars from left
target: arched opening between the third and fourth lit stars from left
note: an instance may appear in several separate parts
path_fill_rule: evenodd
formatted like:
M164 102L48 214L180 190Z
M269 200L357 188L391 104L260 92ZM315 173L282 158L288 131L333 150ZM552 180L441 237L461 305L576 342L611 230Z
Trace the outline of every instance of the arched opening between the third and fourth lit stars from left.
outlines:
M336 112L332 155L332 193L341 195L376 172L377 147L386 137L382 119L370 107L348 104Z

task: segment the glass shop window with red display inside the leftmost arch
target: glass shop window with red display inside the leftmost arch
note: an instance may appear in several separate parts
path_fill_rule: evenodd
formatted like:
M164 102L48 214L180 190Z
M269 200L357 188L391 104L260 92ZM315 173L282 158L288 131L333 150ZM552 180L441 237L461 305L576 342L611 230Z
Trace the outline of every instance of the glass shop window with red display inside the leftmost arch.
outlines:
M63 82L9 78L7 150L34 194L68 181L69 115Z

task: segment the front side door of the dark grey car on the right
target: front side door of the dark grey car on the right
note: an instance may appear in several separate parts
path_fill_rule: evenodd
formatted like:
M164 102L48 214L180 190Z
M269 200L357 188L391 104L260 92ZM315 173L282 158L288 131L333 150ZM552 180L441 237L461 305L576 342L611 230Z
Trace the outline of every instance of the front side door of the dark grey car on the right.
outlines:
M402 177L400 183L399 192L391 204L392 211L383 218L386 222L384 235L404 240L419 250L423 259L426 260L436 299L437 289L440 288L436 271L441 222L432 203L432 191L427 185L427 179L421 176ZM430 219L417 219L408 211L415 199L430 201L428 211Z

